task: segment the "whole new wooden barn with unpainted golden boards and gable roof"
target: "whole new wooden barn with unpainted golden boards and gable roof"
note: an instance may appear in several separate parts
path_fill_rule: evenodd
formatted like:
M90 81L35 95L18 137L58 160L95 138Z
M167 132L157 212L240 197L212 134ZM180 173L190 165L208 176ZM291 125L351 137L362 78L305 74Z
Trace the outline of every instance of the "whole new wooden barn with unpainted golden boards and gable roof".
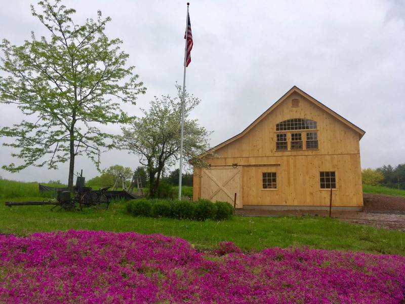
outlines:
M193 199L326 210L332 192L332 210L362 210L364 134L294 86L244 131L200 156L209 168L194 168Z

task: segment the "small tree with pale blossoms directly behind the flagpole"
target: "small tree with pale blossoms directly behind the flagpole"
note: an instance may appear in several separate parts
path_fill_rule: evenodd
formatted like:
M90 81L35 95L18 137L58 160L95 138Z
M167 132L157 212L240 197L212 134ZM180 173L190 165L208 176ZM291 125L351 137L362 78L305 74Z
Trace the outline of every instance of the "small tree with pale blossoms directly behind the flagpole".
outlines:
M176 85L178 96L155 97L144 116L132 122L130 128L122 128L123 135L116 138L116 145L139 155L139 162L146 167L149 178L149 196L156 197L159 181L165 170L173 166L180 154L181 99L182 88ZM185 95L183 156L186 163L204 163L198 155L209 147L209 135L196 120L189 119L192 109L200 100L193 95Z

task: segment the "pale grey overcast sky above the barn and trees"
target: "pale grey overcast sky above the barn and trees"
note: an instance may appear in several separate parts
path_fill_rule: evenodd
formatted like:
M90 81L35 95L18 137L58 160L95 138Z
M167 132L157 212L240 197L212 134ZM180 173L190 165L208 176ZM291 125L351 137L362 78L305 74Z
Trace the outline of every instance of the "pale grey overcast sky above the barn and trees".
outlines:
M0 39L21 45L46 28L30 13L36 2L3 1ZM140 115L155 95L176 94L183 81L186 1L63 1L76 9L76 23L110 16L106 33L124 41L147 87L136 106ZM405 163L405 2L381 1L191 1L194 47L186 87L202 101L192 112L214 131L214 146L245 129L296 85L366 131L360 141L362 168ZM21 121L19 111L0 105L0 126ZM118 127L110 132L119 133ZM2 142L2 138L0 138ZM1 165L18 163L0 147ZM101 167L135 168L138 157L112 150ZM97 175L84 158L76 161L87 178ZM27 168L4 178L67 181L59 171Z

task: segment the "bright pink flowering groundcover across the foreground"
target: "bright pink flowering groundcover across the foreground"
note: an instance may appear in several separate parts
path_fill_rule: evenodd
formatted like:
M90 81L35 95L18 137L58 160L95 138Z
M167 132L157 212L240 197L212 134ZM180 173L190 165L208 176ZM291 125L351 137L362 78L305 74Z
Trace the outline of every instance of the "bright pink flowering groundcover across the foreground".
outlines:
M0 302L400 303L405 257L232 243L199 252L159 234L0 236Z

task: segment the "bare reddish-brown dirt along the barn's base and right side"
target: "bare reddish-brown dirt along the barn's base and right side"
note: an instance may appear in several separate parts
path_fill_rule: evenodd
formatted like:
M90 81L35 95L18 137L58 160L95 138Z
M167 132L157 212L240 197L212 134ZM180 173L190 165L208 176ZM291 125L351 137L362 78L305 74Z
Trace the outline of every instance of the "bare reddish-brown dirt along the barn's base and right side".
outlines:
M364 194L364 211L332 211L332 217L343 221L366 224L392 230L405 231L405 198L379 194ZM329 216L329 211L311 210L236 210L240 215L320 215Z

